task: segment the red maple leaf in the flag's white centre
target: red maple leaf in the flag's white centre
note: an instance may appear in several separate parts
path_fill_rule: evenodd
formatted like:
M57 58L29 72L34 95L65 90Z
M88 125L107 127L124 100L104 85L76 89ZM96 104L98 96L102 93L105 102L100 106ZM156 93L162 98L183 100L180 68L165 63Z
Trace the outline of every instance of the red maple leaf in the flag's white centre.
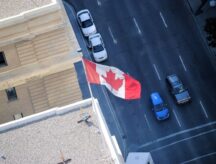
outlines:
M112 70L110 69L109 72L107 72L107 77L104 77L102 75L102 77L104 78L104 80L111 85L111 87L113 89L115 89L116 91L119 90L119 88L122 86L123 80L122 79L115 79L115 73L112 72Z

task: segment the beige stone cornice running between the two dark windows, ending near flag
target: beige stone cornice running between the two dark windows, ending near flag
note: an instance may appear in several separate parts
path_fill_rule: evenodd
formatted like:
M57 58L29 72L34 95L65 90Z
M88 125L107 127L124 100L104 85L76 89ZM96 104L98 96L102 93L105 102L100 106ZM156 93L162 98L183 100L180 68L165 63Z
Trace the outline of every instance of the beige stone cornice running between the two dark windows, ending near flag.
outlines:
M0 74L0 90L16 87L26 83L26 80L42 78L60 71L73 68L73 63L81 61L79 52L60 54L44 61L31 63Z

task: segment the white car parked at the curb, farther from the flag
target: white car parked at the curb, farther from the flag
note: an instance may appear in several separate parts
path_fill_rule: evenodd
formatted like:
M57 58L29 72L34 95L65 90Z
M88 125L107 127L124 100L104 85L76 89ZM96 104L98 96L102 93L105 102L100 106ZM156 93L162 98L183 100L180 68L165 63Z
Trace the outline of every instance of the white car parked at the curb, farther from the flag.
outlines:
M84 36L88 37L89 35L97 32L94 21L88 9L79 11L77 13L77 20Z

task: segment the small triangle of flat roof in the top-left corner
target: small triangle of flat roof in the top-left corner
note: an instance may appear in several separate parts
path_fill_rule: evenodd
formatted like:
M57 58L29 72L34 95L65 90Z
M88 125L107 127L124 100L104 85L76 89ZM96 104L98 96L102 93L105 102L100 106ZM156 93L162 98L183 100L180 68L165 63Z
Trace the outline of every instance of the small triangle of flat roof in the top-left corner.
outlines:
M0 19L52 3L52 0L0 0Z

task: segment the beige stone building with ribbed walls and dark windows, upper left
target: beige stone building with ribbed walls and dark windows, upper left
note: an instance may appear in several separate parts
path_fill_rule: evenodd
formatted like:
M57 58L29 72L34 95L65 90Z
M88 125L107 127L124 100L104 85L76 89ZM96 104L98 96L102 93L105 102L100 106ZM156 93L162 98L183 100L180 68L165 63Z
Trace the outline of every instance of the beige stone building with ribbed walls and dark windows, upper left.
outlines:
M0 1L0 123L82 99L60 0Z

